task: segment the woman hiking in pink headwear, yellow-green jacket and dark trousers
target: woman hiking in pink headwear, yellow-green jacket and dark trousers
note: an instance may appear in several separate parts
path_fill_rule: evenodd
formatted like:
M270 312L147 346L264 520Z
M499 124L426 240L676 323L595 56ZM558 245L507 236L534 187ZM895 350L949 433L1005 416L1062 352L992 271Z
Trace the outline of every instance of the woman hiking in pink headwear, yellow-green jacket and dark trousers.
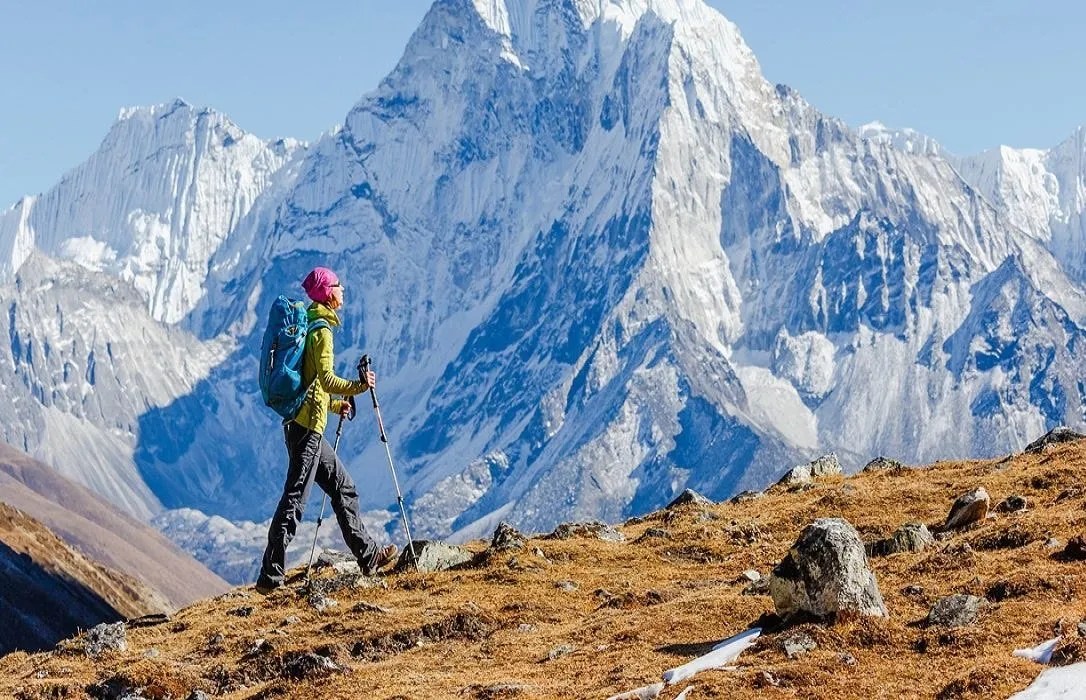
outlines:
M272 517L268 545L264 550L256 589L267 593L283 585L287 567L287 546L294 538L298 522L302 519L305 499L313 481L328 494L336 520L348 548L366 575L372 575L396 555L396 546L378 548L358 517L358 493L354 481L324 438L328 413L336 412L353 418L354 402L332 399L332 395L354 396L369 391L376 384L372 371L357 380L342 379L333 371L332 329L340 324L337 309L343 306L343 285L336 273L326 267L314 268L302 288L313 303L307 309L310 323L325 321L312 329L305 339L302 359L302 381L308 386L305 402L293 420L283 422L283 435L290 464L282 498Z

